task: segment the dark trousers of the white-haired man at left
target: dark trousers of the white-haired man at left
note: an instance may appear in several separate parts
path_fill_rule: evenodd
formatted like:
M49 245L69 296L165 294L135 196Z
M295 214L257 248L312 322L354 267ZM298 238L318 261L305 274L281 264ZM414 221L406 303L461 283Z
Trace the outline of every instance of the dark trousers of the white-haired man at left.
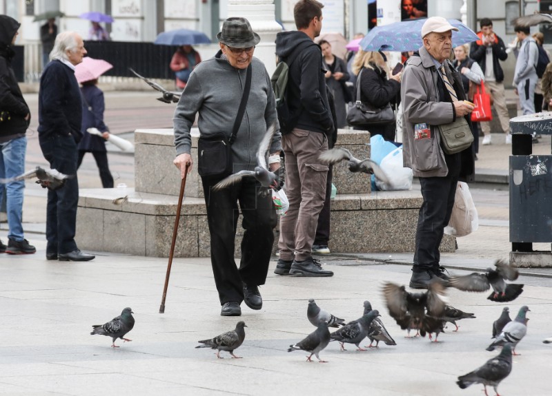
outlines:
M55 191L48 190L46 205L46 253L69 253L77 249L77 204L79 182L77 180L77 143L72 135L39 135L40 148L50 168L69 175L65 184Z

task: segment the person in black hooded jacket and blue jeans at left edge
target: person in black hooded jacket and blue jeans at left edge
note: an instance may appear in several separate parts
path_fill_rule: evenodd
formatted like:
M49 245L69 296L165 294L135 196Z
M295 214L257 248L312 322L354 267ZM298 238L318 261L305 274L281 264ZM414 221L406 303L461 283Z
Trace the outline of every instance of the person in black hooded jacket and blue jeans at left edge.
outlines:
M26 131L30 122L29 107L12 69L15 55L12 45L21 23L0 15L0 178L14 178L25 172ZM0 205L6 188L8 214L8 247L0 241L0 253L32 254L37 249L23 238L23 189L25 181L0 185Z

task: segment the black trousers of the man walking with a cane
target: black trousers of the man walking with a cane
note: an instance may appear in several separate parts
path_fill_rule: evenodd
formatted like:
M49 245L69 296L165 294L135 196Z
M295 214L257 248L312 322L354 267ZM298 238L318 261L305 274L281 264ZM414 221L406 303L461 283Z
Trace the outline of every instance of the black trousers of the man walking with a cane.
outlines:
M254 178L213 191L221 177L203 177L207 221L211 239L211 264L221 305L244 300L242 282L264 284L274 243L277 217L272 195L259 196L260 185ZM237 203L239 202L239 208ZM239 211L244 220L242 260L239 269L234 261L235 236Z

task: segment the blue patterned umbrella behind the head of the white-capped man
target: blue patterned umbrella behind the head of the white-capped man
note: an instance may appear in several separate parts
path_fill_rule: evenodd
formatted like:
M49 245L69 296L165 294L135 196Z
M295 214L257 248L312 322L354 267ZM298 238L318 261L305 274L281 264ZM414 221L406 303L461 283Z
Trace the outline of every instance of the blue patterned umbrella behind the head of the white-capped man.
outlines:
M380 48L384 51L415 51L423 45L421 34L425 21L426 18L376 26L360 41L359 46L364 51L377 51ZM456 19L448 21L459 29L458 32L453 31L453 47L479 40L477 34L464 23Z

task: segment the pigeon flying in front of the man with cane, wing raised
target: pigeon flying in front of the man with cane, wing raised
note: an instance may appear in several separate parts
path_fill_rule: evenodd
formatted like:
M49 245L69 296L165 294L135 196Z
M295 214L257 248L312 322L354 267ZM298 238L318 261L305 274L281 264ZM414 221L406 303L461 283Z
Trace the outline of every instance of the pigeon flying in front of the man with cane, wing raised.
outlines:
M213 187L213 190L216 191L230 187L233 183L242 180L243 177L255 177L257 181L261 183L262 187L265 187L264 191L270 188L279 189L278 176L271 172L266 164L266 153L268 149L270 149L270 143L272 142L275 132L276 123L273 123L273 125L270 125L266 130L266 134L264 134L261 144L257 149L257 166L254 171L242 170L235 174L231 174L219 181L219 183Z

